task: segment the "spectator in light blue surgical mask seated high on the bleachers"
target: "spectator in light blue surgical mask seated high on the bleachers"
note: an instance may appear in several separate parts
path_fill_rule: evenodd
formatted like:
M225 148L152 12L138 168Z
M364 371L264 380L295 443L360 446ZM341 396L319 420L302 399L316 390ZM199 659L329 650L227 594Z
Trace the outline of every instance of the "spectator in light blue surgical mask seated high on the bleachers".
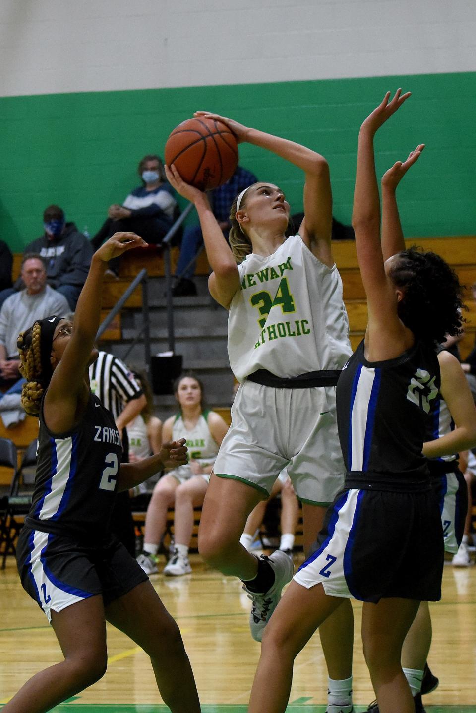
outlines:
M172 227L177 202L165 178L162 159L155 154L144 156L138 173L142 185L129 193L123 205L110 205L108 218L91 241L95 250L120 230L135 232L157 245Z

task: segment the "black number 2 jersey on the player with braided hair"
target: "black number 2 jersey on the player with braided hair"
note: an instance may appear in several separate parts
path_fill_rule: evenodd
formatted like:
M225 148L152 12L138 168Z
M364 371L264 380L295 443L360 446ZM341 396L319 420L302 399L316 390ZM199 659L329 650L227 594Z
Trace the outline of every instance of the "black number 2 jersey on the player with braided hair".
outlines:
M26 524L48 533L99 540L108 530L122 447L113 415L90 394L81 423L52 434L43 418L35 489Z

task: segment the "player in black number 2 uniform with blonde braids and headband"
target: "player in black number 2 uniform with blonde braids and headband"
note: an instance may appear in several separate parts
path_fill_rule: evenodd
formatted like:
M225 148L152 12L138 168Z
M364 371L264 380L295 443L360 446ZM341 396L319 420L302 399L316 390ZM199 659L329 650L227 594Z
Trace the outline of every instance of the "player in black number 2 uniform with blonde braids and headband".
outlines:
M39 416L40 431L35 491L17 561L21 583L48 616L64 660L29 679L5 713L46 712L100 679L108 658L106 621L148 653L171 711L200 712L175 621L135 559L108 533L116 491L133 488L165 465L185 463L185 441L120 464L113 415L89 384L108 260L141 245L134 233L115 233L93 255L73 324L48 317L18 340L27 380L22 403Z

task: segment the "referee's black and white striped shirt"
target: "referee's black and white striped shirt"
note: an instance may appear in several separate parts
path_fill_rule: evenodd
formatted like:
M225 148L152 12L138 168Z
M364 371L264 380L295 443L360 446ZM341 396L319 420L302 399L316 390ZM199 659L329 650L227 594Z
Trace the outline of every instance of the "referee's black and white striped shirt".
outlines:
M123 361L108 352L99 352L89 367L91 391L117 419L125 404L138 399L143 390Z

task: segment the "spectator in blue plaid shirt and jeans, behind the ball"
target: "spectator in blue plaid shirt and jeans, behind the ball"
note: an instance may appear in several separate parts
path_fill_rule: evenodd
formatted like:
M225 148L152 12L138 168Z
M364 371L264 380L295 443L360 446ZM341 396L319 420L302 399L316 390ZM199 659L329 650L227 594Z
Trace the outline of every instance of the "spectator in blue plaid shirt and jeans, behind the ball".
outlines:
M257 183L255 175L237 166L232 178L227 180L227 183L220 185L211 191L211 204L214 217L217 218L218 225L223 231L224 237L228 240L228 233L231 223L229 222L229 209L236 196L245 188L248 188L252 183ZM143 236L142 236L143 237ZM174 297L185 297L189 294L197 294L197 287L193 282L195 274L195 260L197 251L202 245L202 229L200 225L189 225L185 228L182 237L182 247L180 248L180 257L175 270L177 282L172 289Z

